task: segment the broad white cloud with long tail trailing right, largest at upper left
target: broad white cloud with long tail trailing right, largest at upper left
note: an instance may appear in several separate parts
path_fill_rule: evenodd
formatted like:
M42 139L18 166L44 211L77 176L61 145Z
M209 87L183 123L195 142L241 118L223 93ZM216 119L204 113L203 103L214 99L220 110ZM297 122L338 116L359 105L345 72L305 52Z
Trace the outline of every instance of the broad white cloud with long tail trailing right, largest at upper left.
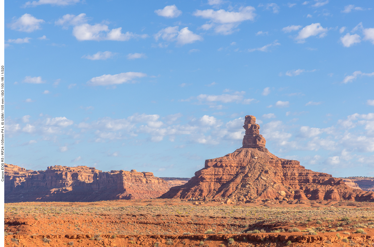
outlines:
M109 29L105 24L88 24L90 18L86 17L85 13L79 15L66 14L55 22L55 25L61 25L62 28L67 29L73 26L73 35L77 40L114 40L114 41L128 41L133 38L146 38L147 34L134 34L131 32L122 33L122 27Z

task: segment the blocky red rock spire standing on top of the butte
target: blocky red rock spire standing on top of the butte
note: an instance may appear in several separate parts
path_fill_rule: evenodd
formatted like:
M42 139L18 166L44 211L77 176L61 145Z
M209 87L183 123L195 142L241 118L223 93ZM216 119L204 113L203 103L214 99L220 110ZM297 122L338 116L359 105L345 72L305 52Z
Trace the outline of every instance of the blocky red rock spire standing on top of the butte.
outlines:
M245 129L243 148L265 147L266 140L262 135L260 135L260 125L256 123L255 116L246 115L243 128Z

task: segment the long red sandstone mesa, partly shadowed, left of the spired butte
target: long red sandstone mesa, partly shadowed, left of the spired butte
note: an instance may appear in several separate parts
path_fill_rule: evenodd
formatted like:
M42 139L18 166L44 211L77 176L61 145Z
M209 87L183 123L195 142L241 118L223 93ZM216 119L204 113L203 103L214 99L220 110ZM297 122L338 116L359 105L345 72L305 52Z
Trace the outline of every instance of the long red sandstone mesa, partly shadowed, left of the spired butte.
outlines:
M168 183L152 172L102 172L87 166L50 166L46 171L5 164L8 202L93 202L116 199L157 198Z

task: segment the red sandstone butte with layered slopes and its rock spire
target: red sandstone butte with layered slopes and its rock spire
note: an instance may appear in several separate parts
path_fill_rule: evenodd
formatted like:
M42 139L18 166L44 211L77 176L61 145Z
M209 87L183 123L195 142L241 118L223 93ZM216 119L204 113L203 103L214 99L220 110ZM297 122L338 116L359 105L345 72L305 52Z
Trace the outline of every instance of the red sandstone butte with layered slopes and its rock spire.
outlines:
M186 184L172 187L160 198L255 202L279 200L311 204L313 201L369 201L374 192L347 186L342 179L305 169L297 160L281 159L266 148L254 116L245 116L243 147L216 159L205 160L205 167Z

